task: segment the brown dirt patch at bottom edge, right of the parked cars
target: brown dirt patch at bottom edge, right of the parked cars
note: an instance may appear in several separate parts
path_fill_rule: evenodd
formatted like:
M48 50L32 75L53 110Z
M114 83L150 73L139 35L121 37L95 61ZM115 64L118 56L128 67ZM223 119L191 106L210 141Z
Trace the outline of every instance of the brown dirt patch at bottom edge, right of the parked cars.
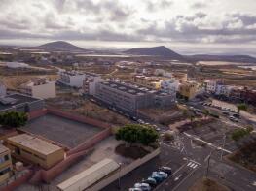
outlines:
M213 179L202 178L199 179L189 191L230 191L230 189Z

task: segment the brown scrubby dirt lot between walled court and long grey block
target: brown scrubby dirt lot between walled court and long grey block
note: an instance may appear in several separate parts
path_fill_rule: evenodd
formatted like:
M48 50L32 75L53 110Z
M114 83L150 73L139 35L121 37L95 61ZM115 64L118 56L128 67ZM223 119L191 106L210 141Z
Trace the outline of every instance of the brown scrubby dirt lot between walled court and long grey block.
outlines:
M63 111L89 116L113 125L125 125L130 123L127 118L116 112L69 93L61 94L61 96L48 100L47 104Z

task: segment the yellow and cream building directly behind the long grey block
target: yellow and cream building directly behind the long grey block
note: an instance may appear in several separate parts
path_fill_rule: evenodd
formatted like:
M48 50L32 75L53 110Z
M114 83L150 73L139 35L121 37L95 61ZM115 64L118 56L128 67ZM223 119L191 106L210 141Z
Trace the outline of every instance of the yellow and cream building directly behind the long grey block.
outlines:
M138 85L142 85L151 89L159 90L162 80L155 77L134 76L132 81Z

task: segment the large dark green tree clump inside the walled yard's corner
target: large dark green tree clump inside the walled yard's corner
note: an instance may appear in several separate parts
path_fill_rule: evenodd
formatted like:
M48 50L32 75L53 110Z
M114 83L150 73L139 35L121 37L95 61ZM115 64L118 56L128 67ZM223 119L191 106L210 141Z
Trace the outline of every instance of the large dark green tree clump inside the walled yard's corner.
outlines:
M123 140L131 145L132 143L141 143L149 145L155 143L159 138L158 132L149 126L128 124L121 127L116 133L117 140Z

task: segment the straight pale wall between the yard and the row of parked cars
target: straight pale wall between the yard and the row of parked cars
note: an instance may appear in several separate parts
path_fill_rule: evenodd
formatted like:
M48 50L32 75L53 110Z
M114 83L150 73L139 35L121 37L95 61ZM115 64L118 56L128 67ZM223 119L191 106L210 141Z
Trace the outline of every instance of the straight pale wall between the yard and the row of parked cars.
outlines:
M148 162L149 160L155 158L159 154L160 154L160 148L154 150L150 154L147 154L143 158L140 158L140 159L137 159L137 160L133 161L128 166L125 166L124 168L121 168L120 172L117 171L114 175L110 175L109 177L99 181L97 184L91 186L91 188L88 188L86 190L88 190L88 191L100 190L100 189L106 187L107 185L109 185L110 183L114 182L115 180L117 180L119 177L127 175L132 170L134 170L137 167L141 166L142 164Z

